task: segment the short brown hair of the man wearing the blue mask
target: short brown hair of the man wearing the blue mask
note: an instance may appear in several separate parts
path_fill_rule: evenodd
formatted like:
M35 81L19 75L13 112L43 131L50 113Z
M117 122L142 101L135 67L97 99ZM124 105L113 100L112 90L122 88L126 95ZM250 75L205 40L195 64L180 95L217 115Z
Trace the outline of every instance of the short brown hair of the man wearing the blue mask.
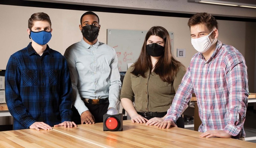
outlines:
M30 30L34 26L35 21L47 21L50 24L50 27L52 28L51 19L49 15L44 12L38 12L31 15L31 17L28 19L28 28Z

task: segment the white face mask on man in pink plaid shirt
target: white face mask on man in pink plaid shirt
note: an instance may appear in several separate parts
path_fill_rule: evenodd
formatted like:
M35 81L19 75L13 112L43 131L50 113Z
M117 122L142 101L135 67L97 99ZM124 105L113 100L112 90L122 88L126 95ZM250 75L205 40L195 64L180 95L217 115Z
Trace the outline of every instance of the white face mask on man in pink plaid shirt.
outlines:
M213 32L214 30L212 30ZM193 47L201 53L204 53L206 51L208 51L208 49L217 42L217 38L215 38L212 43L211 40L209 38L209 36L212 34L212 32L209 35L200 37L200 38L196 38L196 39L192 39L191 38L191 43L193 45Z

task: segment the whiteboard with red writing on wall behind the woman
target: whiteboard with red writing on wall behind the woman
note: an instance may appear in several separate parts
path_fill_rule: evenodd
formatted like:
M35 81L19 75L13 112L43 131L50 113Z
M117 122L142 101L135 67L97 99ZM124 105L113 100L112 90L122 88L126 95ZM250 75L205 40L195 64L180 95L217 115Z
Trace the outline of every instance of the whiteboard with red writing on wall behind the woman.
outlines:
M127 71L127 64L137 61L148 31L107 29L107 44L116 50L118 69L120 72ZM174 34L171 37L172 53Z

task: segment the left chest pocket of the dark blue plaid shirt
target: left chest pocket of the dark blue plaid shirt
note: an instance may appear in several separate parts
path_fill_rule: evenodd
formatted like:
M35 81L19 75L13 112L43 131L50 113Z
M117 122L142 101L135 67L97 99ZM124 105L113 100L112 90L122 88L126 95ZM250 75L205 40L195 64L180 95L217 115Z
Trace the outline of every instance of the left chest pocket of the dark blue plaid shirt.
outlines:
M33 69L25 69L23 72L23 85L36 86L37 85L37 71Z

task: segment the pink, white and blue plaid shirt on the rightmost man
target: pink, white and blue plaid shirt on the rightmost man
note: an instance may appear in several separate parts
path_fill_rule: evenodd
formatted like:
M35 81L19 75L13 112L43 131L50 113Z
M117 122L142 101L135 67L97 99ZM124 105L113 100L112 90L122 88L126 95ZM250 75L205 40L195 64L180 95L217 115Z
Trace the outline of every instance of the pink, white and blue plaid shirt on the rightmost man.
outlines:
M233 138L245 137L248 92L244 57L234 47L218 41L208 61L202 53L192 57L165 120L176 121L195 93L202 121L198 131L224 130Z

